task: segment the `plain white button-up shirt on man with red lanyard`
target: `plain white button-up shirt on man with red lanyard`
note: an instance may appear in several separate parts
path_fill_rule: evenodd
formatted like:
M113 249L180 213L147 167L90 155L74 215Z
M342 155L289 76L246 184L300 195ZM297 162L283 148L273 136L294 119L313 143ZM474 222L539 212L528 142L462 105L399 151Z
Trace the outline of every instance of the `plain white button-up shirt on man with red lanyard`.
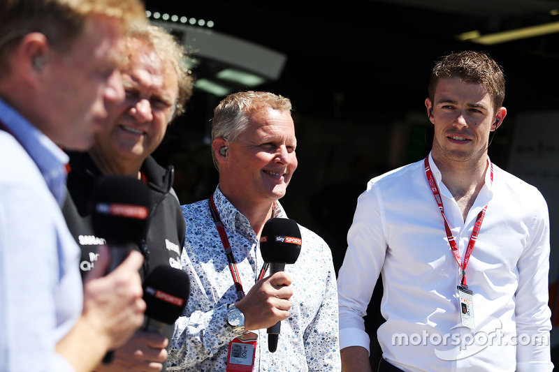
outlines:
M542 194L493 165L466 221L429 156L460 258L475 329L461 325L460 269L423 161L372 179L357 204L338 277L340 348L369 347L363 315L382 272L383 357L404 371L551 371L549 214ZM542 345L543 343L543 345Z

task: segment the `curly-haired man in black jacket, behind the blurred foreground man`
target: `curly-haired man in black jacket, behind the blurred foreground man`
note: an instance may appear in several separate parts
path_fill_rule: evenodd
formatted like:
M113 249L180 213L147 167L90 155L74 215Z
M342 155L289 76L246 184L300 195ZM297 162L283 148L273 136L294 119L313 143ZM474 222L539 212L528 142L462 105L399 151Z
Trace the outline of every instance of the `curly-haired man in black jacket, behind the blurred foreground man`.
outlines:
M106 127L95 137L87 153L69 153L68 198L64 217L68 228L82 248L82 275L94 267L97 248L105 244L94 235L87 211L89 194L102 174L138 177L150 190L150 216L147 230L138 241L144 255L140 275L145 278L155 267L170 265L180 269L184 244L184 217L173 185L173 168L167 170L150 156L163 140L168 124L183 112L191 96L192 80L181 59L184 52L163 29L138 25L126 39L126 62L120 68L126 98L108 112ZM159 371L167 356L164 336L136 333L131 341L115 351L110 364L95 371ZM138 357L140 355L140 357Z

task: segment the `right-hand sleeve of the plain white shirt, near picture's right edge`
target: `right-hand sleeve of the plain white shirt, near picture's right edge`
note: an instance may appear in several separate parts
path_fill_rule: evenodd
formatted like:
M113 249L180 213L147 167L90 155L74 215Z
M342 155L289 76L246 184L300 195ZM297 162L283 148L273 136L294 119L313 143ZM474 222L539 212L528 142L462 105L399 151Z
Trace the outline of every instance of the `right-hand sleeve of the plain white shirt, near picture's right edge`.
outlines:
M548 306L549 212L539 194L537 211L518 267L516 290L516 371L551 372L551 310ZM530 336L530 342L525 342ZM524 343L526 343L524 345Z

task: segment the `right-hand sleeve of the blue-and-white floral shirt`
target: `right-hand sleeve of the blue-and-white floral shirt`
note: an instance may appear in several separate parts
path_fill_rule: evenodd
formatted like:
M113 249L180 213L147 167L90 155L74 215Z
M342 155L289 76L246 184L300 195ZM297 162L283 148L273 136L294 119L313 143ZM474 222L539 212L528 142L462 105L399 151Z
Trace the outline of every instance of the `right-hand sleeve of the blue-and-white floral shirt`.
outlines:
M335 271L326 243L322 251L328 253L326 286L322 304L313 322L305 329L303 341L309 371L341 371Z

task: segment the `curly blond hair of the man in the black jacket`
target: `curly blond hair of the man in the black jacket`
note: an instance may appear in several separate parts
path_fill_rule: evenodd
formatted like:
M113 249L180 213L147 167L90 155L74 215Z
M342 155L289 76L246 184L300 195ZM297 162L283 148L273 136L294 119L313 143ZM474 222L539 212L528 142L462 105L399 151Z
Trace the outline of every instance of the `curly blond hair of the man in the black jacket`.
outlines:
M157 54L161 62L170 66L177 74L178 94L177 101L173 107L170 121L184 112L184 104L192 96L193 79L187 65L184 47L175 38L161 27L147 23L133 24L126 38L126 53L130 56L136 50L133 49L132 40L139 40ZM167 68L167 66L165 68Z

